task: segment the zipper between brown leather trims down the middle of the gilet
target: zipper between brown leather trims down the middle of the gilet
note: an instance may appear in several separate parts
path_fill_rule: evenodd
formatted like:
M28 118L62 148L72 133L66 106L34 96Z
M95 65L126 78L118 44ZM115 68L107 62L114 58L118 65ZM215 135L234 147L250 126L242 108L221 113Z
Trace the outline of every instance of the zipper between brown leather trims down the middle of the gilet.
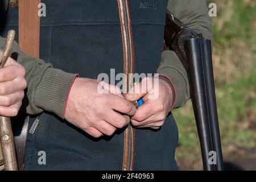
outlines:
M124 15L125 15L125 31L126 31L126 40L127 40L127 48L128 48L128 74L131 73L131 42L130 42L130 35L129 35L129 27L128 27L128 17L127 17L127 6L126 6L126 0L123 0L123 7L124 7ZM127 75L127 88L129 91L129 75ZM129 130L129 144L128 144L128 160L127 160L127 171L130 171L130 167L131 167L131 148L132 148L132 133L131 133L131 125L129 123L128 126L128 130Z

